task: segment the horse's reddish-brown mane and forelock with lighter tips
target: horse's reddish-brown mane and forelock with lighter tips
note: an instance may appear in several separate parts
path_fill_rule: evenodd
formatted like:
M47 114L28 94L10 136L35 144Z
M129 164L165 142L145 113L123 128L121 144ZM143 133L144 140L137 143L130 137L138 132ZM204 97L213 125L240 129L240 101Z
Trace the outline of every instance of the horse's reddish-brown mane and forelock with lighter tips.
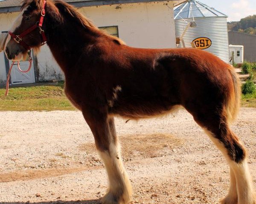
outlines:
M62 0L48 0L47 2L52 3L58 8L59 12L61 11L65 12L66 14L70 15L74 20L76 20L81 26L84 26L85 28L90 28L93 31L95 31L98 34L104 34L108 38L114 40L120 45L125 45L125 42L120 40L118 37L112 36L107 34L105 31L100 30L97 28L89 19L84 17L82 14L80 14L77 9L70 4L62 1ZM23 0L23 5L21 6L21 10L25 8L26 6L29 6L31 3L35 3L35 6L40 10L43 7L43 1L42 0Z

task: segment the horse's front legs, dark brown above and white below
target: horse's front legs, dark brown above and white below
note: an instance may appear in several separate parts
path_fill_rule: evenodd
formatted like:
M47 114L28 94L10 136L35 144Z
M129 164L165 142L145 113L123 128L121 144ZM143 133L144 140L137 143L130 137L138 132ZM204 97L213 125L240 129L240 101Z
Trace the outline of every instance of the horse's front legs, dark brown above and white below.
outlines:
M131 197L131 184L122 164L114 119L108 118L105 111L92 109L83 110L83 115L108 173L109 188L102 204L127 204Z

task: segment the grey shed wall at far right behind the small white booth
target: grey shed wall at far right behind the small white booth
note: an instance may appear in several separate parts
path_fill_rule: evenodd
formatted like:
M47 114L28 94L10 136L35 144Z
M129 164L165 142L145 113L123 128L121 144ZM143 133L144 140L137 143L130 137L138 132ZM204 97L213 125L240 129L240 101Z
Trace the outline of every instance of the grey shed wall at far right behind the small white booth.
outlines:
M256 35L229 31L228 38L229 44L244 45L245 61L256 62Z

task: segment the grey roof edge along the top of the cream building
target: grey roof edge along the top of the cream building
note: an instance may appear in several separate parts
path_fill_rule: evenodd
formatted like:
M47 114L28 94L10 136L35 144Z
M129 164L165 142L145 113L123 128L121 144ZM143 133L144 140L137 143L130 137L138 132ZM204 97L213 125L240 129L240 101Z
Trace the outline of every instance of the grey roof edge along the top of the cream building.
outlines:
M185 0L91 0L91 1L78 1L78 2L67 2L72 6L77 8L81 7L89 7L89 6L107 6L114 4L126 4L126 3L150 3L150 2L165 2L165 1L177 1L179 3L184 2ZM2 7L0 8L1 13L12 13L20 11L20 6L12 6L12 7Z

